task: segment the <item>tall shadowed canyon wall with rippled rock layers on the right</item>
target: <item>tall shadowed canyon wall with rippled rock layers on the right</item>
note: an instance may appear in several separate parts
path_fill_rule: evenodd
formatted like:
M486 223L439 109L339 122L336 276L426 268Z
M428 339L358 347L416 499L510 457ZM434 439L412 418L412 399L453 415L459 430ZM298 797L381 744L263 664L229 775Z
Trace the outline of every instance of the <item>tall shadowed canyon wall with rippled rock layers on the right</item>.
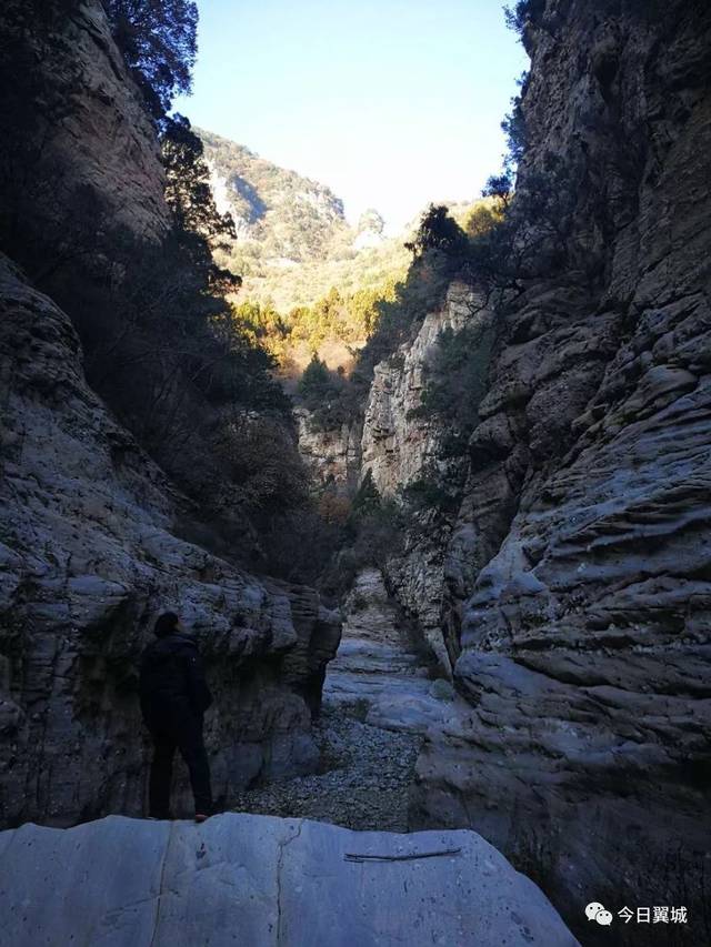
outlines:
M527 41L519 189L551 154L572 165L573 238L600 266L500 316L445 564L474 726L432 737L415 819L475 826L571 911L683 888L700 925L711 10L549 0Z

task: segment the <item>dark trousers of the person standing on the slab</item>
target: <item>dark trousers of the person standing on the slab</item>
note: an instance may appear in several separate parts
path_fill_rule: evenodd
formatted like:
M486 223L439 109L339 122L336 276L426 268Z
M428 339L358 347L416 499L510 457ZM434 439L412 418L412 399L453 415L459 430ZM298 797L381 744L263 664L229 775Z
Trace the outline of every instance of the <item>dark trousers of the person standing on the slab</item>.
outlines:
M196 813L211 815L210 764L202 742L202 717L181 714L173 719L167 719L166 714L160 714L158 719L149 722L149 729L154 747L149 786L151 816L168 818L176 749L180 750L190 773Z

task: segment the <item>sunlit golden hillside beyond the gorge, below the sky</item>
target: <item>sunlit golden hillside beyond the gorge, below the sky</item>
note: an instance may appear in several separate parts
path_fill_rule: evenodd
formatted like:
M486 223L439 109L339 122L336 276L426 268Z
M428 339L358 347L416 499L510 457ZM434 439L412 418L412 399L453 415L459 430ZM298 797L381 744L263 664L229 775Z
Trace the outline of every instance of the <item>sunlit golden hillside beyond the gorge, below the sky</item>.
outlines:
M314 353L349 374L379 306L407 279L419 221L385 236L371 209L351 226L343 202L319 182L211 132L200 138L216 205L236 223L236 239L214 255L242 278L231 298L238 320L277 359L288 391ZM474 235L491 200L450 204L449 214Z

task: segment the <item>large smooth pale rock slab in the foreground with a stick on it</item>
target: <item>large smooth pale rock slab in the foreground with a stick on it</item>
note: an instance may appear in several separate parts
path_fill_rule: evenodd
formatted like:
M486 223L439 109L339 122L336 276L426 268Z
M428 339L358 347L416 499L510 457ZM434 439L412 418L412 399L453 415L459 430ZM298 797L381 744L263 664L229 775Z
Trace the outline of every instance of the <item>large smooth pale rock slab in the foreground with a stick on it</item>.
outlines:
M2 947L578 943L474 832L351 832L246 813L4 832L0 917Z

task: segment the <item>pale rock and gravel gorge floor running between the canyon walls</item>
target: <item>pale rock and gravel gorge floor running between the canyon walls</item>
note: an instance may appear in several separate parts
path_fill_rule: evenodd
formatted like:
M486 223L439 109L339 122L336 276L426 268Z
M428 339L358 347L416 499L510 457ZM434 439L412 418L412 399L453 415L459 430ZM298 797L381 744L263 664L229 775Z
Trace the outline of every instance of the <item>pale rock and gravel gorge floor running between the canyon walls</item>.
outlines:
M470 709L434 676L414 637L380 572L364 570L344 604L341 643L313 725L320 772L247 789L234 810L407 832L423 733Z

